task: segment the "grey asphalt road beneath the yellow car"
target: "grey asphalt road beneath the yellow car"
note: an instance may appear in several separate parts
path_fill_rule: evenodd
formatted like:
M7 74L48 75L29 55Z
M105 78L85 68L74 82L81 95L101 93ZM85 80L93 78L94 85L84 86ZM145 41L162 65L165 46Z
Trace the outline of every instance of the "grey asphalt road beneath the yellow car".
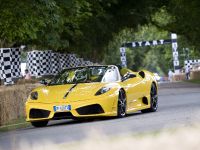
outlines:
M1 149L18 149L49 141L64 143L85 139L91 132L108 136L146 133L200 123L200 86L189 83L165 83L159 88L159 109L155 113L134 113L122 119L76 122L52 121L44 128L25 128L0 133Z

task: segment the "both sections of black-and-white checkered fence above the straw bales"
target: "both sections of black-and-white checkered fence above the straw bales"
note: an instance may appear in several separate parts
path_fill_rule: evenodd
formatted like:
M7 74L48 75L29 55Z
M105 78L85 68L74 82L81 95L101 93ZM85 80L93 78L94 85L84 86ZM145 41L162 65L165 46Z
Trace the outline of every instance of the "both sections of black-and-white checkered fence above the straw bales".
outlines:
M28 52L27 69L32 76L55 75L69 67L93 65L75 54L55 53L51 50ZM0 48L0 79L5 85L13 84L13 78L20 78L21 52L19 48Z

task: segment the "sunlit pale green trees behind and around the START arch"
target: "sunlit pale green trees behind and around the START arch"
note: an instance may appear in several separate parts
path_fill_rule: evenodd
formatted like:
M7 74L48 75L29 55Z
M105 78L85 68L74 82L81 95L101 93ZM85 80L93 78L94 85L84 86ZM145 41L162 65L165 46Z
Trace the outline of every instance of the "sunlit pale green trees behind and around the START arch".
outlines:
M104 63L121 63L119 48L124 42L169 39L169 36L167 31L159 30L151 24L139 26L137 32L127 28L120 32L113 42L110 42ZM166 74L168 68L173 65L171 45L127 48L126 55L128 67L135 71L147 69Z

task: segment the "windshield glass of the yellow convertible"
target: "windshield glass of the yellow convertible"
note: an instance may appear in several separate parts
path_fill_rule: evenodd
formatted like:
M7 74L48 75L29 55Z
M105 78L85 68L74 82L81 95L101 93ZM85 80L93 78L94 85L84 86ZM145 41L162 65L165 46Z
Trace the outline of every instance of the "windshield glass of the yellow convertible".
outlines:
M108 66L91 66L65 69L49 85L101 82Z

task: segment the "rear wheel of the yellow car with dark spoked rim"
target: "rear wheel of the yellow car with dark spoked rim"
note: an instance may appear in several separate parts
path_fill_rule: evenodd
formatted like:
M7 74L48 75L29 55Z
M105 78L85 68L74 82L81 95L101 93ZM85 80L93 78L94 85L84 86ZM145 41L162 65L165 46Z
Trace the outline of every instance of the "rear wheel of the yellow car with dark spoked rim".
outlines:
M155 112L158 109L158 92L156 85L154 83L151 85L150 98L151 98L150 108L141 110L142 113Z

